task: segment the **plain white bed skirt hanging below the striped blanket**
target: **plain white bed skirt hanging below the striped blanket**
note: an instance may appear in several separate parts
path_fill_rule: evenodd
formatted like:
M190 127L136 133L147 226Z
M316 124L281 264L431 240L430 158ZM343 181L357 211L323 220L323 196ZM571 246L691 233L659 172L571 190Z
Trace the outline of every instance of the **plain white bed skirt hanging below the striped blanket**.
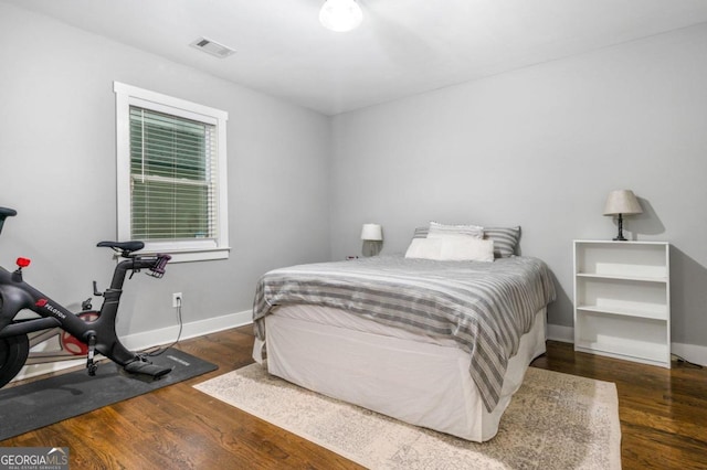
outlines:
M520 340L504 377L500 400L488 413L468 373L469 354L452 340L387 327L318 306L279 307L265 318L267 370L305 388L402 421L482 442L532 359L545 352L546 309ZM262 363L262 343L253 356Z

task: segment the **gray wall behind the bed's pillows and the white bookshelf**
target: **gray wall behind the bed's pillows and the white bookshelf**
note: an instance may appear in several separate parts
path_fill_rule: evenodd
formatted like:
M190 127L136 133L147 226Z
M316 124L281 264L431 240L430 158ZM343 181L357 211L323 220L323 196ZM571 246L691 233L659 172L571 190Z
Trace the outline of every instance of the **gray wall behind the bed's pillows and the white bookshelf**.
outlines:
M360 253L365 222L383 253L415 226L523 226L572 325L572 239L610 239L608 193L645 213L625 227L672 250L673 341L707 345L707 25L595 51L334 118L331 253ZM356 253L354 253L356 252Z

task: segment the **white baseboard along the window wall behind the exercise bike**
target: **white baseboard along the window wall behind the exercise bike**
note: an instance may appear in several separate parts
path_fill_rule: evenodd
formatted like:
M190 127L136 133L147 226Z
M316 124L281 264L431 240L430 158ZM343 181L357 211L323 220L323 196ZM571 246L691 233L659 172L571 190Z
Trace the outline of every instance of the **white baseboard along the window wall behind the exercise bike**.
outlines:
M244 310L242 312L209 318L205 320L192 321L182 325L180 340L203 337L204 334L242 327L252 322L252 310ZM141 351L157 345L171 344L177 340L178 334L179 325L173 325L143 333L128 334L120 338L120 341L123 341L123 344L125 344L129 350ZM61 361L46 364L27 365L22 367L14 380L21 381L23 378L30 378L42 374L49 374L51 372L63 371L65 368L85 365L85 359L77 359L75 361Z

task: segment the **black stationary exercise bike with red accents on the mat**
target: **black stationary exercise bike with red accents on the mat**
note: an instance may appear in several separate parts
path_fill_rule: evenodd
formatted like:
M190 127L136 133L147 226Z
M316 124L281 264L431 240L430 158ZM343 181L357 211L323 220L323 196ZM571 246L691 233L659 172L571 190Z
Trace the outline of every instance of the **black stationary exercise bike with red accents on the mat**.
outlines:
M14 215L17 211L0 207L0 233L6 218ZM0 387L14 378L25 364L75 360L78 356L86 356L88 375L95 375L98 366L94 361L96 352L123 366L128 374L157 380L171 372L169 367L150 363L146 354L125 348L115 331L127 273L130 271L133 277L146 269L148 275L161 278L171 256L135 254L145 247L137 241L101 242L97 246L112 248L125 258L116 265L107 290L99 292L93 282L93 295L103 297L98 311L92 310L89 298L82 303L82 312L73 313L24 282L22 269L30 265L28 258L18 258L14 271L0 267ZM18 313L24 310L31 310L39 317L18 318ZM61 351L30 351L54 335L59 335Z

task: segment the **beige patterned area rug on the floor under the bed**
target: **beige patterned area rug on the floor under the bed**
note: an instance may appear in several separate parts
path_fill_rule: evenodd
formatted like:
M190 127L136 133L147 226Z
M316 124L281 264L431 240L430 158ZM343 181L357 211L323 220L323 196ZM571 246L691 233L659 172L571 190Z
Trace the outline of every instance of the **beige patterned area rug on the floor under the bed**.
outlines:
M621 468L615 385L535 367L484 444L315 394L257 364L196 388L371 469Z

